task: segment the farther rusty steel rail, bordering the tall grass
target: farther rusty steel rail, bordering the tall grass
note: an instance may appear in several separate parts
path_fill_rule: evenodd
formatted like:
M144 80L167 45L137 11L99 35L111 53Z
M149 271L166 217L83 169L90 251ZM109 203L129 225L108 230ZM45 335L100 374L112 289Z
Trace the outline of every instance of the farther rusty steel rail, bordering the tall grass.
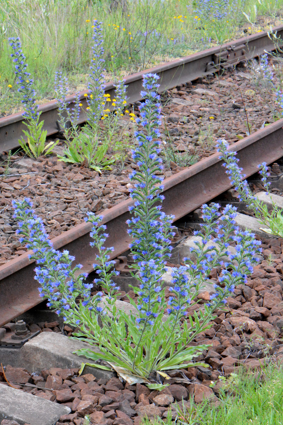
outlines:
M273 28L273 31L277 31L277 36L283 38L283 26L277 26ZM148 72L156 73L160 76L158 90L162 92L176 85L184 84L215 72L219 70L221 64L236 64L241 60L257 57L263 54L265 50L272 51L274 49L274 43L269 39L267 32L264 31L130 75L125 78L127 102L134 103L141 100L142 76ZM88 90L79 93L79 98L82 102L82 111L79 116L80 123L85 121L84 110L87 106L85 93L88 93ZM110 94L110 96L114 95L113 83L108 83L105 86L105 93ZM75 96L71 95L68 96L67 101L74 102L74 99ZM57 133L57 102L53 101L40 105L39 111L42 112L40 119L44 119L44 130L47 130L48 136ZM25 125L22 113L0 118L0 151L17 147L18 139L23 136L23 129L25 129Z

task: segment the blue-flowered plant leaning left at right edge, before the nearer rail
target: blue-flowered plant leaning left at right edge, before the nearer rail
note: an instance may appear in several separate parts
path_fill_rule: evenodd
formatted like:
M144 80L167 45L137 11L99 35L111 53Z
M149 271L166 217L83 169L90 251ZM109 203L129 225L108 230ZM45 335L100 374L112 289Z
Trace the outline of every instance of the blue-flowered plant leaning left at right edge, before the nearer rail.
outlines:
M225 139L217 140L218 152L221 153L219 156L220 159L224 160L224 167L226 167L226 174L229 176L229 180L233 185L234 189L238 192L238 198L242 202L246 202L247 207L249 207L254 213L256 218L268 228L264 228L266 233L271 235L283 236L283 210L278 207L272 200L272 211L269 212L267 205L260 201L257 196L253 195L252 191L249 188L249 184L244 180L245 176L242 174L243 169L238 166L239 159L236 157L236 152L232 150L227 150L229 143ZM261 174L262 184L266 193L269 193L270 183L267 181L269 176L266 162L258 165L259 173Z

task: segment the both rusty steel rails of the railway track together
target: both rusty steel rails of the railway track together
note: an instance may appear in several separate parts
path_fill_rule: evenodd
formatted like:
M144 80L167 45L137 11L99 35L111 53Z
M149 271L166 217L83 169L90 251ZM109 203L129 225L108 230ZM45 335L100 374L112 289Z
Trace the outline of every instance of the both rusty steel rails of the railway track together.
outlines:
M281 33L283 35L283 28L278 27L277 34ZM147 72L156 72L161 76L159 90L163 91L217 70L222 60L225 60L222 63L224 66L235 64L243 59L258 56L264 50L274 48L266 33L236 40L232 46L230 43L222 46L221 49L212 48L147 70ZM214 63L212 64L212 62ZM142 74L144 73L134 74L126 81L129 102L136 102L140 99L138 93L141 88ZM108 85L106 90L111 95L113 85ZM69 98L69 101L71 100L72 97ZM47 125L48 134L57 132L56 103L42 105L40 109L42 118ZM11 117L0 119L2 150L15 147L22 131L21 118L21 114L14 114ZM82 121L83 119L84 117L81 116ZM266 161L270 164L283 155L282 127L283 120L279 120L240 142L236 142L229 148L238 152L240 166L246 176L254 174L260 162ZM167 214L175 215L177 220L229 189L231 185L221 164L218 154L214 154L165 179L164 211ZM107 225L110 234L108 244L114 246L111 258L116 258L128 249L130 240L125 222L129 218L128 207L130 204L130 200L123 201L102 213L103 223ZM82 263L86 272L93 270L92 263L95 256L95 251L89 249L88 233L90 229L90 224L79 224L52 240L56 249L64 247L70 251L71 255L75 255L76 262ZM0 326L41 302L37 283L33 279L33 269L34 264L28 260L28 252L0 266L0 299L5 300L5 303L0 305Z

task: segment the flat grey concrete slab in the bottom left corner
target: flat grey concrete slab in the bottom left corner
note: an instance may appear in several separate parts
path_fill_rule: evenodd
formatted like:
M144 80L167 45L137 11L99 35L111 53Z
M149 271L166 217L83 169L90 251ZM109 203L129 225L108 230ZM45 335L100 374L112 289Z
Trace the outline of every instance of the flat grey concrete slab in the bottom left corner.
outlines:
M53 425L71 409L25 391L0 384L0 421L11 419L30 425Z

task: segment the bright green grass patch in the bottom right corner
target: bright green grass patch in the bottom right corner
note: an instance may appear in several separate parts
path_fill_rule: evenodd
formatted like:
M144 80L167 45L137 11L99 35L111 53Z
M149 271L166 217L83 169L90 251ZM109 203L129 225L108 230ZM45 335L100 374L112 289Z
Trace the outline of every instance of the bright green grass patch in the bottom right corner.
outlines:
M217 407L209 401L191 404L179 411L179 419L149 421L144 425L282 425L283 424L283 368L268 365L254 376L242 372L226 386Z

